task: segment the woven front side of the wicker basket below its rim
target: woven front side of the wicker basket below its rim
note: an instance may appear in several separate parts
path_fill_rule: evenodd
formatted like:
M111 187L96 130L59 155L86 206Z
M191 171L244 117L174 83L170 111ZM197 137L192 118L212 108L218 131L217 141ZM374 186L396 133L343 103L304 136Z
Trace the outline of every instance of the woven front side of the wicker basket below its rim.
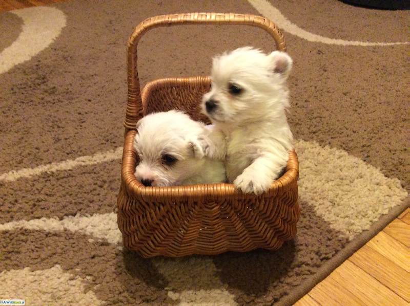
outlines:
M124 246L143 257L276 250L296 235L300 210L292 187L273 198L178 203L131 199L121 188L118 227Z

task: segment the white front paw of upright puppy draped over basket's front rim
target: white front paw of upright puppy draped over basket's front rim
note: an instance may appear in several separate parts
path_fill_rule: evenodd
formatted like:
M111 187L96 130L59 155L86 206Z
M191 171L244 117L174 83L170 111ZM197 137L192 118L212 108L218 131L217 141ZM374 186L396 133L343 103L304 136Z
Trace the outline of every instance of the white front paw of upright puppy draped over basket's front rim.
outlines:
M283 165L270 156L260 156L245 168L233 184L244 193L261 194L269 190Z

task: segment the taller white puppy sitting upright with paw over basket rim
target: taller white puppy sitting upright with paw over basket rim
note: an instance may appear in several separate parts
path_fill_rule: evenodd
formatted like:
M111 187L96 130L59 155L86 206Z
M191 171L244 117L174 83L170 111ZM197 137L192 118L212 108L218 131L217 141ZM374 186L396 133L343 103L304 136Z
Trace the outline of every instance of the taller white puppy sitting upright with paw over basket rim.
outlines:
M286 119L291 68L288 54L264 54L251 47L213 59L212 86L203 96L202 108L225 140L215 131L206 154L226 154L228 182L243 192L268 190L293 149Z

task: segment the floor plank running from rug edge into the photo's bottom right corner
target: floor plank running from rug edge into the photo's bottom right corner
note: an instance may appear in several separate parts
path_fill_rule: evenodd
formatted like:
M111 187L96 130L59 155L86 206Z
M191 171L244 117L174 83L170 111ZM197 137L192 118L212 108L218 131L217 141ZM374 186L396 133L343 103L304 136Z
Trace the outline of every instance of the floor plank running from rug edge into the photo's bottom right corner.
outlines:
M407 302L396 293L383 286L375 278L364 272L351 261L346 260L330 275L340 286L360 297L366 305L405 306Z

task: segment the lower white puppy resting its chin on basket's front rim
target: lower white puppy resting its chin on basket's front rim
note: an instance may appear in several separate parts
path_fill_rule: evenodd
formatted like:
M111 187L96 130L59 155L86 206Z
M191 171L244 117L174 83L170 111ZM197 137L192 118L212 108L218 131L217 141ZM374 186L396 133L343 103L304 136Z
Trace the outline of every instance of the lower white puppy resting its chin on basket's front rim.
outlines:
M177 111L140 119L134 139L140 161L135 168L136 179L145 186L225 182L223 162L204 157L198 142L211 130Z

